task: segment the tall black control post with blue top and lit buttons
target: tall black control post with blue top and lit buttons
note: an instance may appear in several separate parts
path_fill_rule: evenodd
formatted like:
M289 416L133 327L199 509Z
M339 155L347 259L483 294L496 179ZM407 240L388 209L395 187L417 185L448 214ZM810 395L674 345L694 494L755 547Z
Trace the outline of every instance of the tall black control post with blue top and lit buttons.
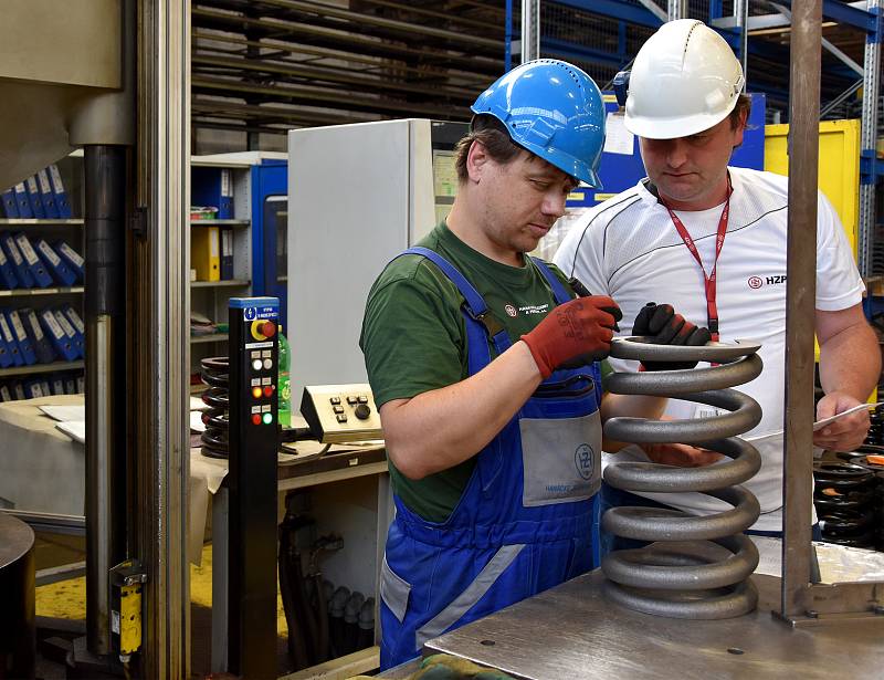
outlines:
M276 460L280 302L231 297L228 668L276 676ZM270 641L267 641L267 639Z

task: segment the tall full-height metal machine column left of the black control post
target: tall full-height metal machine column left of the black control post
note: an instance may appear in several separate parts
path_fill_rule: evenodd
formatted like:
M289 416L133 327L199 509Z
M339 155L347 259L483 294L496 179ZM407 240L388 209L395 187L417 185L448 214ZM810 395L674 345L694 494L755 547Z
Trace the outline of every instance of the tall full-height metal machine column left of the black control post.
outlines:
M137 201L129 305L130 444L144 592L140 677L190 676L190 2L139 0Z

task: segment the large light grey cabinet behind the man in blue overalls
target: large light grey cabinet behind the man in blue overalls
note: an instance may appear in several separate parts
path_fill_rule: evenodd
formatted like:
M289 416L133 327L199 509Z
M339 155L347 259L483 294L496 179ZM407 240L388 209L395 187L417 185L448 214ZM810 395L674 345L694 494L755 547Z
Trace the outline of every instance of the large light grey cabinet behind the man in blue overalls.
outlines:
M383 121L288 133L292 394L365 381L362 312L383 265L448 215L464 123ZM309 293L308 293L309 292Z

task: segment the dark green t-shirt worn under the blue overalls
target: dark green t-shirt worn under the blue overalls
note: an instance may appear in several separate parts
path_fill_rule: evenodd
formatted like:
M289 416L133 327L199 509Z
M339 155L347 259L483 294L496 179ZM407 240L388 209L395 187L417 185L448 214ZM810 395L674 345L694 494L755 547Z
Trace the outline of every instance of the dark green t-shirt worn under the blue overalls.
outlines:
M513 342L533 329L556 304L535 265L511 266L491 260L455 237L444 222L419 244L441 254L473 284ZM463 302L454 283L427 258L403 255L383 270L368 294L359 341L379 408L392 399L410 399L467 377ZM474 467L475 458L471 458L414 481L390 462L390 478L410 510L442 522L460 501Z

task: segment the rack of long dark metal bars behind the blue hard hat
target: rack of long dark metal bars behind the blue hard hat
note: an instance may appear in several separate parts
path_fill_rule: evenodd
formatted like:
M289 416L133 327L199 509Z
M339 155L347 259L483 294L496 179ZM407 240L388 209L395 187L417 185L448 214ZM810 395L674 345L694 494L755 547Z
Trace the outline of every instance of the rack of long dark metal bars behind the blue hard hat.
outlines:
M193 128L248 122L250 134L285 135L378 115L466 121L470 104L505 70L506 12L491 0L449 11L403 0L357 9L291 0L266 17L243 0L193 4ZM357 66L343 73L340 60Z

